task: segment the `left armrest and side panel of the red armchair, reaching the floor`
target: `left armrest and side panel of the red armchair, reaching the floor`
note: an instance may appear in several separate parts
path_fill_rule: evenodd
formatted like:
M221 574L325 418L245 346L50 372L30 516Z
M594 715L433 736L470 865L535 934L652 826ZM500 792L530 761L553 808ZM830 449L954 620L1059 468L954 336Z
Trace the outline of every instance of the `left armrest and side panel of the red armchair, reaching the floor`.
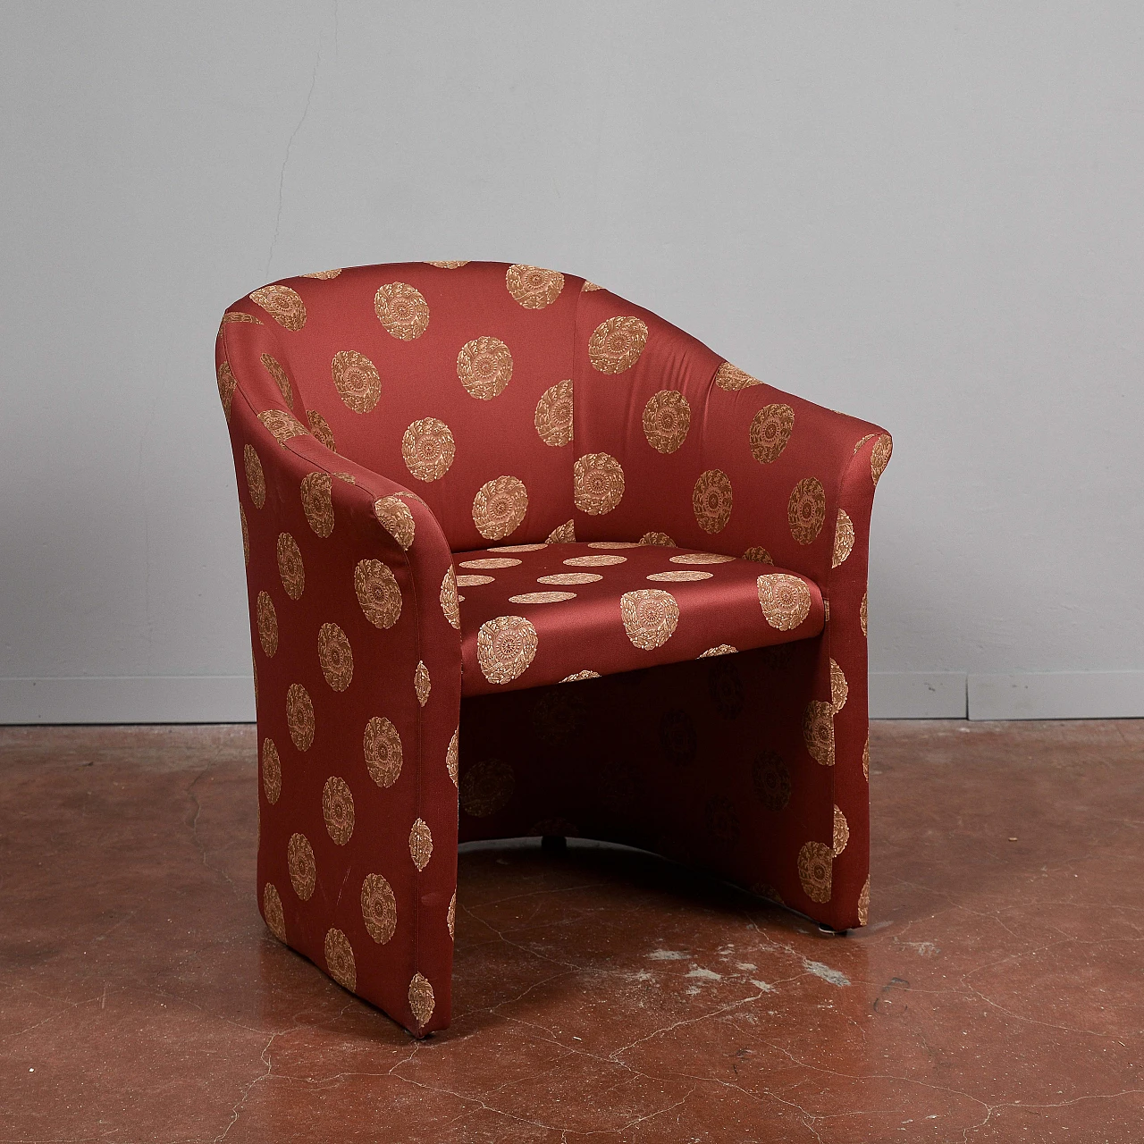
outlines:
M419 496L297 421L261 360L271 340L254 324L219 340L255 664L260 903L283 940L422 1035L451 1006L452 554Z

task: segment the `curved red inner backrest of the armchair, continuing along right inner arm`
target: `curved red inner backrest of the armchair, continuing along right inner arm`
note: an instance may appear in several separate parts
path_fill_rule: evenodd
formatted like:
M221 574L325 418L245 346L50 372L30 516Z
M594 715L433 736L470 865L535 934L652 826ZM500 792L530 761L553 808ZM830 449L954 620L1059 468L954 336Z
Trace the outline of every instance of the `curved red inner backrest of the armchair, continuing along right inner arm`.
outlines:
M646 538L825 583L842 475L879 432L537 267L304 275L241 299L222 331L256 412L288 406L419 494L453 551Z

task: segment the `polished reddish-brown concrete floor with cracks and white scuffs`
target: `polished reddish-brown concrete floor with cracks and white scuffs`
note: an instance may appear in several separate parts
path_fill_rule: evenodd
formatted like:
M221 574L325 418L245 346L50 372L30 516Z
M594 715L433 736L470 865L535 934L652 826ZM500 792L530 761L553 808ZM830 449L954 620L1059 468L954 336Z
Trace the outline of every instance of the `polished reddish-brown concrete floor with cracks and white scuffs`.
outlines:
M0 1141L1144 1139L1144 722L871 754L865 930L467 850L416 1043L265 932L252 728L0 730Z

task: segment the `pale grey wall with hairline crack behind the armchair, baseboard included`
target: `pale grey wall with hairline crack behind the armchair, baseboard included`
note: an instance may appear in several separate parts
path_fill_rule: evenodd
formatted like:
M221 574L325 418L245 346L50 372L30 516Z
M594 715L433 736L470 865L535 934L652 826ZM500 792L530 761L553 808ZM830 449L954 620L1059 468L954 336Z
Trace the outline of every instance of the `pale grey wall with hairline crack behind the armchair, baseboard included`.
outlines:
M583 273L887 426L874 714L1144 715L1138 3L0 19L0 720L249 714L219 316L403 259Z

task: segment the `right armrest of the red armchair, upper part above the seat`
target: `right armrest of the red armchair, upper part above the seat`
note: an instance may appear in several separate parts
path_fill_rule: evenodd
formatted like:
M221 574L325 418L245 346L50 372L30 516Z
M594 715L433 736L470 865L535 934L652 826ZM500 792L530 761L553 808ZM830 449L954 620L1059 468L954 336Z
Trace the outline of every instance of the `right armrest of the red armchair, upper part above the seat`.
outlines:
M824 595L835 554L865 550L891 447L877 426L764 384L606 291L582 296L575 339L578 539L749 553Z

